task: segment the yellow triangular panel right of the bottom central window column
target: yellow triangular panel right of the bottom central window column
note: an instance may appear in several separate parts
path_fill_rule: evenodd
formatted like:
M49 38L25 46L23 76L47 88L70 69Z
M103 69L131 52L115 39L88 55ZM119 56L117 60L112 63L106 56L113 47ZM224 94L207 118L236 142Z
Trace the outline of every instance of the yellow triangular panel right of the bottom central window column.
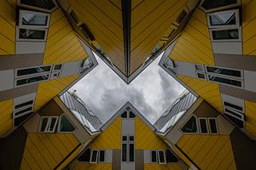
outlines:
M165 150L166 144L138 116L135 119L135 149Z

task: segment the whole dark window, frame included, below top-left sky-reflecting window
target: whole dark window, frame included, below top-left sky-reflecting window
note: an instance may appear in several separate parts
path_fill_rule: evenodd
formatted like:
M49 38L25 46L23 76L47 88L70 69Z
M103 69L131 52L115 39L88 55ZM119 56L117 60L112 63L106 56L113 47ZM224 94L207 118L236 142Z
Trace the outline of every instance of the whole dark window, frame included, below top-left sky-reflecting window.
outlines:
M47 29L26 29L17 27L17 41L46 41Z

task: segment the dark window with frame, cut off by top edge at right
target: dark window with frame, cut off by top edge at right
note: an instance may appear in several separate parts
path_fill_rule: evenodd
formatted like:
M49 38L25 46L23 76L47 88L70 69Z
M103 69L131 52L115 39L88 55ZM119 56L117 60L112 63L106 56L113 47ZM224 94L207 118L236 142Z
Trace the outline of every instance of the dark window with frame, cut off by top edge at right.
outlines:
M240 5L240 0L204 0L201 2L201 8L207 12L223 8L232 8L237 5Z

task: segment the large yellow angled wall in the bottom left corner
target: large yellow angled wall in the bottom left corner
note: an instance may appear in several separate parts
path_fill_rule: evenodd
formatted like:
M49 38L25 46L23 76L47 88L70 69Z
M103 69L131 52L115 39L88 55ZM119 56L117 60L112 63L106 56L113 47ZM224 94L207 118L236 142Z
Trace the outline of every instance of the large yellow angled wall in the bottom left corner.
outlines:
M20 169L54 169L78 145L73 133L28 133Z

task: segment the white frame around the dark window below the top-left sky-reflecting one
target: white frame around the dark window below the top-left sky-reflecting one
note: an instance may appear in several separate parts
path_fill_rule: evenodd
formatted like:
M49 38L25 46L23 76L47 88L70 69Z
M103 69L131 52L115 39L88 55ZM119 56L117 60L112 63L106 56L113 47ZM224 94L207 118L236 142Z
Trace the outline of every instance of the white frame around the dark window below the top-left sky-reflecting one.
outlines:
M26 29L26 30L38 30L38 31L45 31L44 34L44 39L23 39L20 38L20 29ZM17 42L46 42L47 39L47 35L48 35L48 29L44 29L44 28L34 28L32 26L16 26L16 41Z

